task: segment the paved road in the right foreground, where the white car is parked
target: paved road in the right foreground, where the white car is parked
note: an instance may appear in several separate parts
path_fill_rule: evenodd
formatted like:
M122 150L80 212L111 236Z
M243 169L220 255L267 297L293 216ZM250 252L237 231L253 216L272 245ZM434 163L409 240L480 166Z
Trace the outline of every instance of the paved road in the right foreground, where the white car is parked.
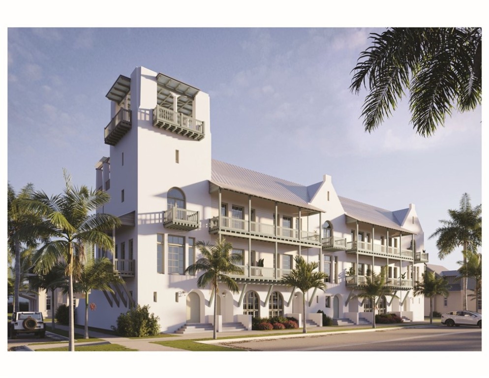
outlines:
M482 351L482 329L406 327L376 332L249 340L226 345L251 351Z

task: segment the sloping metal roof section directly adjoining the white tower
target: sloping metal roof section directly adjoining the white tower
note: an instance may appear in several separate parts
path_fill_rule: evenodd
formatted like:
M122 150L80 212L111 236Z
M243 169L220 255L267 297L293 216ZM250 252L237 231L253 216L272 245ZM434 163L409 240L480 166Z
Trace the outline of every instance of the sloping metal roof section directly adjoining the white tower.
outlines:
M324 212L309 204L307 187L237 165L212 160L211 184L239 193L266 198L313 212Z

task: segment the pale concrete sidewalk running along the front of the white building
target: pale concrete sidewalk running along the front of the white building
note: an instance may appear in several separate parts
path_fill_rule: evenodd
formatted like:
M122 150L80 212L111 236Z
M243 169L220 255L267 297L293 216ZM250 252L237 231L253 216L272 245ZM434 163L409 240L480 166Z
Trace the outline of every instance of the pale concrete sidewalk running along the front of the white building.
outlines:
M77 341L75 342L76 346L82 346L82 345L100 345L100 344L119 344L124 347L130 348L130 349L136 349L139 351L187 351L183 349L177 349L177 348L171 348L171 347L164 347L162 345L154 344L153 342L155 341L172 341L172 340L193 340L193 339L211 339L207 341L202 341L202 343L205 344L218 344L221 342L234 342L234 341L239 341L240 339L243 339L246 337L247 340L257 340L257 339L278 339L278 338L291 338L291 337L308 337L308 336L320 336L320 335L328 335L330 333L355 333L355 332L373 332L373 331L385 331L386 328L388 329L398 329L398 328L404 328L404 327L419 327L419 326L427 326L429 325L429 321L418 321L418 322L412 322L409 323L409 325L403 325L399 326L398 324L377 324L377 328L372 328L371 326L365 326L365 325L354 325L354 326L334 326L334 327L308 327L307 328L307 333L300 333L300 334L293 334L291 333L297 333L300 332L301 329L287 329L287 330L281 330L280 335L271 335L271 336L264 336L266 334L266 331L233 331L233 332L219 332L217 334L217 340L212 340L213 337L213 332L198 332L198 333L191 333L191 334L186 334L186 335L177 335L177 334L167 334L167 335L172 335L172 336L165 336L165 337L155 337L155 338L141 338L141 339L129 339L126 337L120 337L120 336L114 336L114 335L107 335L104 333L100 332L94 332L90 331L90 336L95 337L98 339L102 339L103 341L97 341L97 342L80 342ZM433 325L436 325L435 323ZM64 329L67 330L67 326L63 325L56 325L58 329ZM344 331L342 330L344 328ZM51 332L46 332L46 335L54 338L56 341L61 341L61 340L66 340L66 344L64 343L58 343L56 344L56 347L67 347L68 346L68 339L66 337L51 333ZM257 335L257 337L253 338L250 337L251 335ZM260 335L260 336L258 336ZM234 339L227 339L229 337L235 337ZM225 340L222 340L223 338L226 338ZM33 344L29 345L27 347L29 350L34 351L34 350L39 350L42 348L51 348L53 347L53 344Z

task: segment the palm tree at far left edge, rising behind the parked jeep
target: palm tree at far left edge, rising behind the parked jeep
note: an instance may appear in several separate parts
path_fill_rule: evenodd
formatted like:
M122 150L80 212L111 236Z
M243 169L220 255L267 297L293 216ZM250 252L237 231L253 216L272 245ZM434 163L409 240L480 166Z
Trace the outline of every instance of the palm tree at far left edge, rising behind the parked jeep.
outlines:
M14 189L7 186L7 234L8 249L14 258L14 312L19 311L19 291L21 286L21 251L23 246L33 248L37 244L36 238L29 233L30 226L40 222L39 216L26 209L23 201L30 198L33 185L28 184L16 194ZM40 237L43 235L39 234Z

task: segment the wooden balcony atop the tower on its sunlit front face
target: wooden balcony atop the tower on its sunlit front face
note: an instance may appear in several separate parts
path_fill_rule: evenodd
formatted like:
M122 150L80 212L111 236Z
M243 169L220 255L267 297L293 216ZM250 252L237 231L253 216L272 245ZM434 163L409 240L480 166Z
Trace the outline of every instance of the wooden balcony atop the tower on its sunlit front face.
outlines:
M204 139L204 122L188 117L182 113L156 106L153 109L153 126L169 130L187 138Z

